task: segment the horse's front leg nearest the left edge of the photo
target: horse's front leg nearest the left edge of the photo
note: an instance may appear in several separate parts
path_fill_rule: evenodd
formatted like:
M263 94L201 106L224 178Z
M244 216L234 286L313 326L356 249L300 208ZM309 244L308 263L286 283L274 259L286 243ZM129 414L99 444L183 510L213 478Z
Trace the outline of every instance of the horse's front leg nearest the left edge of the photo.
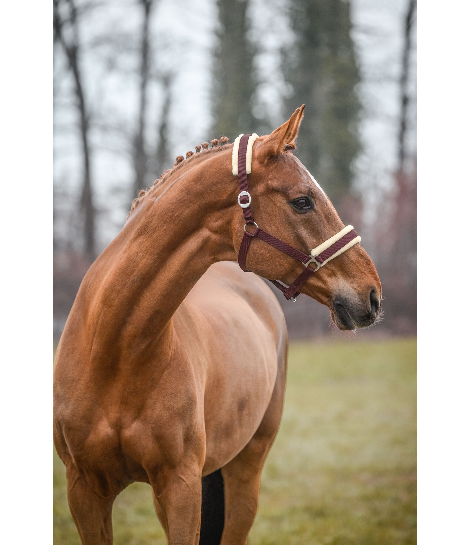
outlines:
M112 504L116 495L100 495L78 469L67 470L70 513L83 545L112 545Z

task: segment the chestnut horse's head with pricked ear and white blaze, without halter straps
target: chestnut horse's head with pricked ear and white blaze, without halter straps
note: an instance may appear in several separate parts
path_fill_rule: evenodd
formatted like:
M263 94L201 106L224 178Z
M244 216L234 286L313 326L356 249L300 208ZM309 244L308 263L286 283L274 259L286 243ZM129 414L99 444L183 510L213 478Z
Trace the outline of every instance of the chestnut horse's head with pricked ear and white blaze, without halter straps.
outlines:
M270 135L254 140L248 184L257 225L273 237L308 253L341 232L344 224L317 181L289 151L295 148L303 115L304 106ZM238 210L235 232L239 236L241 214ZM254 226L245 227L253 232ZM304 265L253 237L247 267L265 278L291 284ZM360 244L354 244L325 267L319 267L300 291L328 306L332 320L341 330L373 324L382 304L377 270Z

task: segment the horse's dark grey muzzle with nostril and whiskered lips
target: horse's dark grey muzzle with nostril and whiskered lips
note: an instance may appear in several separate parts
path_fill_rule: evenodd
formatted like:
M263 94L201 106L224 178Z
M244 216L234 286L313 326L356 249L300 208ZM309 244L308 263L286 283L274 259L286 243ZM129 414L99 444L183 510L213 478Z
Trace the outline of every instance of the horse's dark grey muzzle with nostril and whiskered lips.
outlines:
M330 306L331 319L342 331L367 328L376 321L381 304L376 288L369 290L365 300L338 295Z

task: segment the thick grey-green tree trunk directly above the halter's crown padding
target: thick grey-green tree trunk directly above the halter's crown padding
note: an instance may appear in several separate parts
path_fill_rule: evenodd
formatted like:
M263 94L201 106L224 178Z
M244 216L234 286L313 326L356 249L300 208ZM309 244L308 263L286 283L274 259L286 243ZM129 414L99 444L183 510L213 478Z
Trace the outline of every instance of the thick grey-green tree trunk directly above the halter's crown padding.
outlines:
M233 142L259 124L252 112L255 92L253 46L247 39L247 0L218 0L220 29L216 51L214 129Z

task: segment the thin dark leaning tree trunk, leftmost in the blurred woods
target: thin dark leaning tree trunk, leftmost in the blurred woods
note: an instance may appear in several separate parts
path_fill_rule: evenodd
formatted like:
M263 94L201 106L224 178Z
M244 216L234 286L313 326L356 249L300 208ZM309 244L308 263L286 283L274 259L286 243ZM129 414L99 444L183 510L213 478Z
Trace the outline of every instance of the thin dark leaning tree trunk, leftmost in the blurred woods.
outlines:
M85 212L84 221L84 239L85 239L85 253L90 261L93 261L96 257L96 240L95 240L95 215L96 210L93 205L93 191L91 184L91 168L90 168L90 142L89 131L90 125L88 123L88 112L86 106L86 100L84 95L84 89L82 84L82 74L78 62L80 54L80 42L78 37L78 24L76 17L76 7L73 0L67 0L69 8L68 20L63 20L60 7L63 5L63 0L54 0L54 31L55 39L59 40L62 44L64 52L66 53L69 63L70 71L72 71L74 79L75 96L77 99L77 107L79 111L80 119L80 137L82 143L83 153L83 167L84 167L84 180L81 193L81 209ZM64 24L70 25L71 37L69 40L64 36Z

